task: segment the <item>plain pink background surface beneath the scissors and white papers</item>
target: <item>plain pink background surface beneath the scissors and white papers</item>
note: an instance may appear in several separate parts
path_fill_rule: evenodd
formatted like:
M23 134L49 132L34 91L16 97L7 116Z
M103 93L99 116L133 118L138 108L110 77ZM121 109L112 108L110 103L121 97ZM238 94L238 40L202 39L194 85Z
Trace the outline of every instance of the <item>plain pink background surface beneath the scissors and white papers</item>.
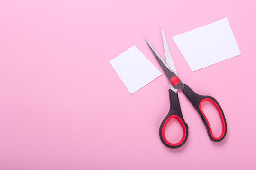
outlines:
M1 0L0 170L256 169L255 8L255 0ZM224 17L242 55L192 72L172 36ZM189 137L165 147L167 78L130 95L110 66L135 45L163 72L144 40L164 56L161 29L183 82L221 104L222 142L210 141L179 92Z

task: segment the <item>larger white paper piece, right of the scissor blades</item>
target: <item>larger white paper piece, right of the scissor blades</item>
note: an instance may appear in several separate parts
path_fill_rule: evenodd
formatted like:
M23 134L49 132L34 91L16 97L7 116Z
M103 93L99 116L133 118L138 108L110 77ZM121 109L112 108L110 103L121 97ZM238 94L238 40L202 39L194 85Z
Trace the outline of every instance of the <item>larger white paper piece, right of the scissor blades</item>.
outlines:
M241 54L227 18L173 37L192 71Z

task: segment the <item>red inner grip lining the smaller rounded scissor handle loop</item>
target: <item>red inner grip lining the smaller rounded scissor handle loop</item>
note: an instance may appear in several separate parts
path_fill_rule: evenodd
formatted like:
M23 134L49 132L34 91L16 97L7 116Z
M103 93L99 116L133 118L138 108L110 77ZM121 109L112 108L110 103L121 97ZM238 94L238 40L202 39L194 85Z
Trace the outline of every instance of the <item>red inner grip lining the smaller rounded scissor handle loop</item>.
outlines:
M165 127L166 127L166 125L168 124L168 122L169 122L171 119L173 119L173 118L175 118L175 119L177 119L177 120L179 121L179 123L181 124L182 129L183 129L183 136L182 136L182 139L181 139L179 142L175 143L175 144L173 144L173 143L167 141L167 139L166 139L166 137L165 137ZM182 119L181 119L180 117L178 117L177 115L172 115L172 116L170 116L170 117L165 121L165 123L164 123L164 126L163 126L163 128L162 128L162 136L163 136L163 139L165 140L165 142L166 142L167 144L171 145L171 146L178 146L178 145L182 144L183 141L185 140L185 137L186 137L186 127L185 127L185 125L184 125Z

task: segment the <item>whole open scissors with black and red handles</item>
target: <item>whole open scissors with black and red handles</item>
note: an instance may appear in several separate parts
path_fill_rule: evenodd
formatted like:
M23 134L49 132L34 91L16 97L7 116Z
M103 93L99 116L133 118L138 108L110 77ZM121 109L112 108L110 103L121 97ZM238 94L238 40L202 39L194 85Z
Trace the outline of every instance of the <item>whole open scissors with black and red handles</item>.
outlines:
M165 119L163 120L163 122L160 126L160 129L159 129L159 136L160 136L161 141L163 142L163 144L165 144L165 146L167 146L169 148L179 148L179 147L183 146L183 144L185 144L185 142L187 141L187 138L188 138L188 124L185 122L182 112L181 112L178 94L176 93L178 89L181 89L183 91L183 93L185 93L187 98L190 100L190 102L192 103L194 108L197 110L197 112L201 116L201 119L207 129L209 138L214 142L219 142L219 141L223 140L227 134L227 122L226 122L223 110L221 109L221 107L219 105L219 102L217 102L217 100L211 96L202 96L202 95L195 93L188 85L182 83L182 81L177 76L177 71L174 66L174 61L172 59L172 55L171 55L169 46L167 44L165 33L163 30L162 30L162 38L163 38L163 42L164 42L165 57L166 57L167 63L159 55L159 53L155 50L153 45L145 38L147 44L149 45L151 51L155 55L155 58L159 62L160 66L163 68L165 75L168 77L170 84L171 84L171 89L169 89L170 110L169 110L169 113L167 114L167 116L165 117ZM217 110L219 112L219 116L220 116L221 124L222 124L222 132L219 137L213 136L209 121L201 109L201 104L202 104L202 102L205 102L205 101L211 102L217 108ZM183 129L183 136L182 136L181 140L177 143L171 143L165 137L165 127L171 119L177 119Z

